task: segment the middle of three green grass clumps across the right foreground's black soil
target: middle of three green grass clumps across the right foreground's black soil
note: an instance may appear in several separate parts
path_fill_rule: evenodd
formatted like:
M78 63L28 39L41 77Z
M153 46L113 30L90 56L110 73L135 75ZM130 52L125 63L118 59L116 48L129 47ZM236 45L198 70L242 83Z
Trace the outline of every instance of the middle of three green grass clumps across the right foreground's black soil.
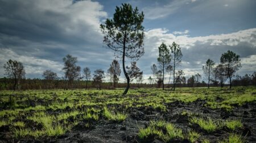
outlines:
M191 122L198 124L202 129L204 129L208 133L214 132L218 128L217 123L214 122L214 120L211 118L203 119L203 118L193 117L191 119Z

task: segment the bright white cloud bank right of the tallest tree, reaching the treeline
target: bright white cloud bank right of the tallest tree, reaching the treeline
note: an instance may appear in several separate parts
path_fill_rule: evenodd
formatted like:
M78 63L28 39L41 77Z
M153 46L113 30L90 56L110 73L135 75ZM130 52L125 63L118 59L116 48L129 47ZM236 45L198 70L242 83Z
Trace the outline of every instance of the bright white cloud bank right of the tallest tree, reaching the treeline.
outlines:
M142 59L156 63L158 46L162 42L171 45L174 41L180 45L183 52L183 62L180 68L185 72L186 77L195 73L203 75L202 66L205 61L211 58L218 63L221 54L226 50L233 50L235 53L241 54L242 68L238 73L244 74L255 71L256 28L199 37L176 36L173 33L168 33L168 29L150 29L145 32L144 45L147 57L142 57ZM249 58L246 57L247 55L249 55ZM150 68L147 69L150 70ZM149 71L147 73L150 75ZM168 81L165 80L165 82Z

